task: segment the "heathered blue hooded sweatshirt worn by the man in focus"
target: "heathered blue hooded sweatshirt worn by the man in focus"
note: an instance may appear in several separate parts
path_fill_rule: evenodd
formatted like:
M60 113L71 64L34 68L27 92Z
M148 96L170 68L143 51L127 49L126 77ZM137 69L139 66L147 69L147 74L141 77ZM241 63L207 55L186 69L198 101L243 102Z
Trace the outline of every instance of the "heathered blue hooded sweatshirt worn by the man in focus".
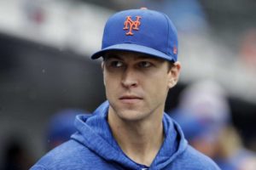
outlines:
M31 170L219 170L210 158L187 143L181 128L166 113L163 116L165 141L150 167L132 161L113 139L107 120L108 105L108 101L100 105L92 116L77 116L78 132L49 151Z

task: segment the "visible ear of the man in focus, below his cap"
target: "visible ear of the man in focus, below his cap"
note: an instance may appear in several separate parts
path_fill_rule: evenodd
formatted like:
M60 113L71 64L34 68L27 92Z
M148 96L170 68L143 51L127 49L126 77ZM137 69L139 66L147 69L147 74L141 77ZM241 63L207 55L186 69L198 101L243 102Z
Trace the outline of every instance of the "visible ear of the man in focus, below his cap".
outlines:
M168 88L173 88L177 84L180 70L181 64L179 61L177 61L172 65L170 71L168 72Z

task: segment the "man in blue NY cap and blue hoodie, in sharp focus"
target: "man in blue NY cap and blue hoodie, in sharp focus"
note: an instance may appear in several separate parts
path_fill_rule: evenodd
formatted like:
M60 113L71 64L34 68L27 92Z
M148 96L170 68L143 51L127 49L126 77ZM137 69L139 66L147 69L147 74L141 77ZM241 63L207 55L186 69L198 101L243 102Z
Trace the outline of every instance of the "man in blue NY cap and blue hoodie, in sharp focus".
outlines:
M164 113L176 83L177 31L166 14L131 9L109 18L102 50L107 101L92 116L77 116L78 132L35 169L219 169L190 147Z

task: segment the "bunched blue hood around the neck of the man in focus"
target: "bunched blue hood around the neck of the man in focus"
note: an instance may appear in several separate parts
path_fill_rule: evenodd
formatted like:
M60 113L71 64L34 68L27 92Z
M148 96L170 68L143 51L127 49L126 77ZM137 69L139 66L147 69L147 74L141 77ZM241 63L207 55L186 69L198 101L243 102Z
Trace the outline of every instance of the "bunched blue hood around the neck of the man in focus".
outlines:
M77 116L75 127L78 132L72 139L102 157L103 160L125 169L141 169L142 165L132 161L119 148L108 126L108 101L100 105L91 116ZM181 128L166 113L163 116L165 141L149 169L162 169L172 163L187 147Z

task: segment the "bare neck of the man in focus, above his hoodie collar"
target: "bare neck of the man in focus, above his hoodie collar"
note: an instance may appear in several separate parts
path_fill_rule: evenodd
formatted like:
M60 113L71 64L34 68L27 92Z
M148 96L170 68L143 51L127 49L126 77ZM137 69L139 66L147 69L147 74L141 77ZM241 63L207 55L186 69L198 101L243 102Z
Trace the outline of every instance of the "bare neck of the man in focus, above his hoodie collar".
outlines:
M129 122L113 112L108 123L120 148L131 160L150 166L164 141L162 115L155 119Z

